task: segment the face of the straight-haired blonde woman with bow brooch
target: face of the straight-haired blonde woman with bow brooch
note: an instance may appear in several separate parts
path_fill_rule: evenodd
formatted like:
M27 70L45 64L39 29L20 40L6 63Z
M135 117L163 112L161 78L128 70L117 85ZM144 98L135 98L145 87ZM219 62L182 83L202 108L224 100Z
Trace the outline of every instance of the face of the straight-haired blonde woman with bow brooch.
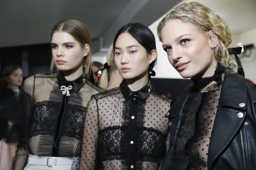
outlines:
M83 57L90 52L90 46L81 47L79 42L67 32L55 32L52 35L52 57L58 70L69 71L82 67Z

